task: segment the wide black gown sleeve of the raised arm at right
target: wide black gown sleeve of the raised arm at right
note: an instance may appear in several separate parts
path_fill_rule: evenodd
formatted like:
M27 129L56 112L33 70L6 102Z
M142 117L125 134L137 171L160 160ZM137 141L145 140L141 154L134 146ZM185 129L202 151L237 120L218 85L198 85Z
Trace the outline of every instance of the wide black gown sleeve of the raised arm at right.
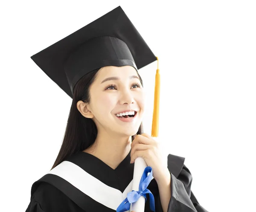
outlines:
M171 199L168 212L208 212L195 198L191 191L192 175L189 169L183 165L180 174L176 178L171 174Z

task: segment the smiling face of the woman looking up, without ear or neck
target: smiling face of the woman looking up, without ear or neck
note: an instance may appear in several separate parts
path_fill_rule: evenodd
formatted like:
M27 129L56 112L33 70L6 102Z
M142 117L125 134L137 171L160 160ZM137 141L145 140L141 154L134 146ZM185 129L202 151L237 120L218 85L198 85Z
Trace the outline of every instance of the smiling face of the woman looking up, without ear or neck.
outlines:
M137 133L143 118L145 94L134 67L103 67L90 87L90 97L87 108L99 132L127 136ZM117 113L125 110L136 111L134 118L117 117Z

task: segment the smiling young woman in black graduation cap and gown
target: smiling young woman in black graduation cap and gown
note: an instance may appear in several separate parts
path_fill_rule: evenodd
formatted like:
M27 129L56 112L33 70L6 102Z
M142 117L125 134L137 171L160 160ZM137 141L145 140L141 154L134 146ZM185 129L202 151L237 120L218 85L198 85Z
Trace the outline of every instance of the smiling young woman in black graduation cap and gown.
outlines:
M190 190L184 158L169 154L166 166L143 134L138 69L156 57L120 6L32 59L73 102L58 157L33 183L26 212L116 211L131 192L137 157L154 177L145 212L207 212Z

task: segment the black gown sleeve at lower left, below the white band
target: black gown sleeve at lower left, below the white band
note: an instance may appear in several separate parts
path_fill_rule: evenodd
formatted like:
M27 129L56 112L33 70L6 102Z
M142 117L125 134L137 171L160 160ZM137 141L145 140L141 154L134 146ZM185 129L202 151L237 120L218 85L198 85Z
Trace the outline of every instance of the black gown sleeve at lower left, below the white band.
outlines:
M55 186L41 182L31 196L26 212L84 212L84 210Z

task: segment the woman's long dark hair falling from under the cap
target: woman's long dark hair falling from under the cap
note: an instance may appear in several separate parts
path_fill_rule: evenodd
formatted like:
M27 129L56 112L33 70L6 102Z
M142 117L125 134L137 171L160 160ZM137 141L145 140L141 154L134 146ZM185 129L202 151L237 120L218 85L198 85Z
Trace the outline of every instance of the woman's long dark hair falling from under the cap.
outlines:
M97 136L97 128L95 123L90 118L85 118L81 115L76 107L76 103L81 100L84 103L90 103L90 86L96 79L96 73L100 70L93 70L84 75L74 87L73 101L70 107L70 113L67 119L67 127L64 134L64 139L58 153L58 156L52 166L58 166L66 160L70 155L89 148L95 142ZM140 78L140 83L143 86L143 81ZM136 135L143 134L143 125L140 124L137 134L132 136L132 140ZM51 170L52 170L51 168Z

